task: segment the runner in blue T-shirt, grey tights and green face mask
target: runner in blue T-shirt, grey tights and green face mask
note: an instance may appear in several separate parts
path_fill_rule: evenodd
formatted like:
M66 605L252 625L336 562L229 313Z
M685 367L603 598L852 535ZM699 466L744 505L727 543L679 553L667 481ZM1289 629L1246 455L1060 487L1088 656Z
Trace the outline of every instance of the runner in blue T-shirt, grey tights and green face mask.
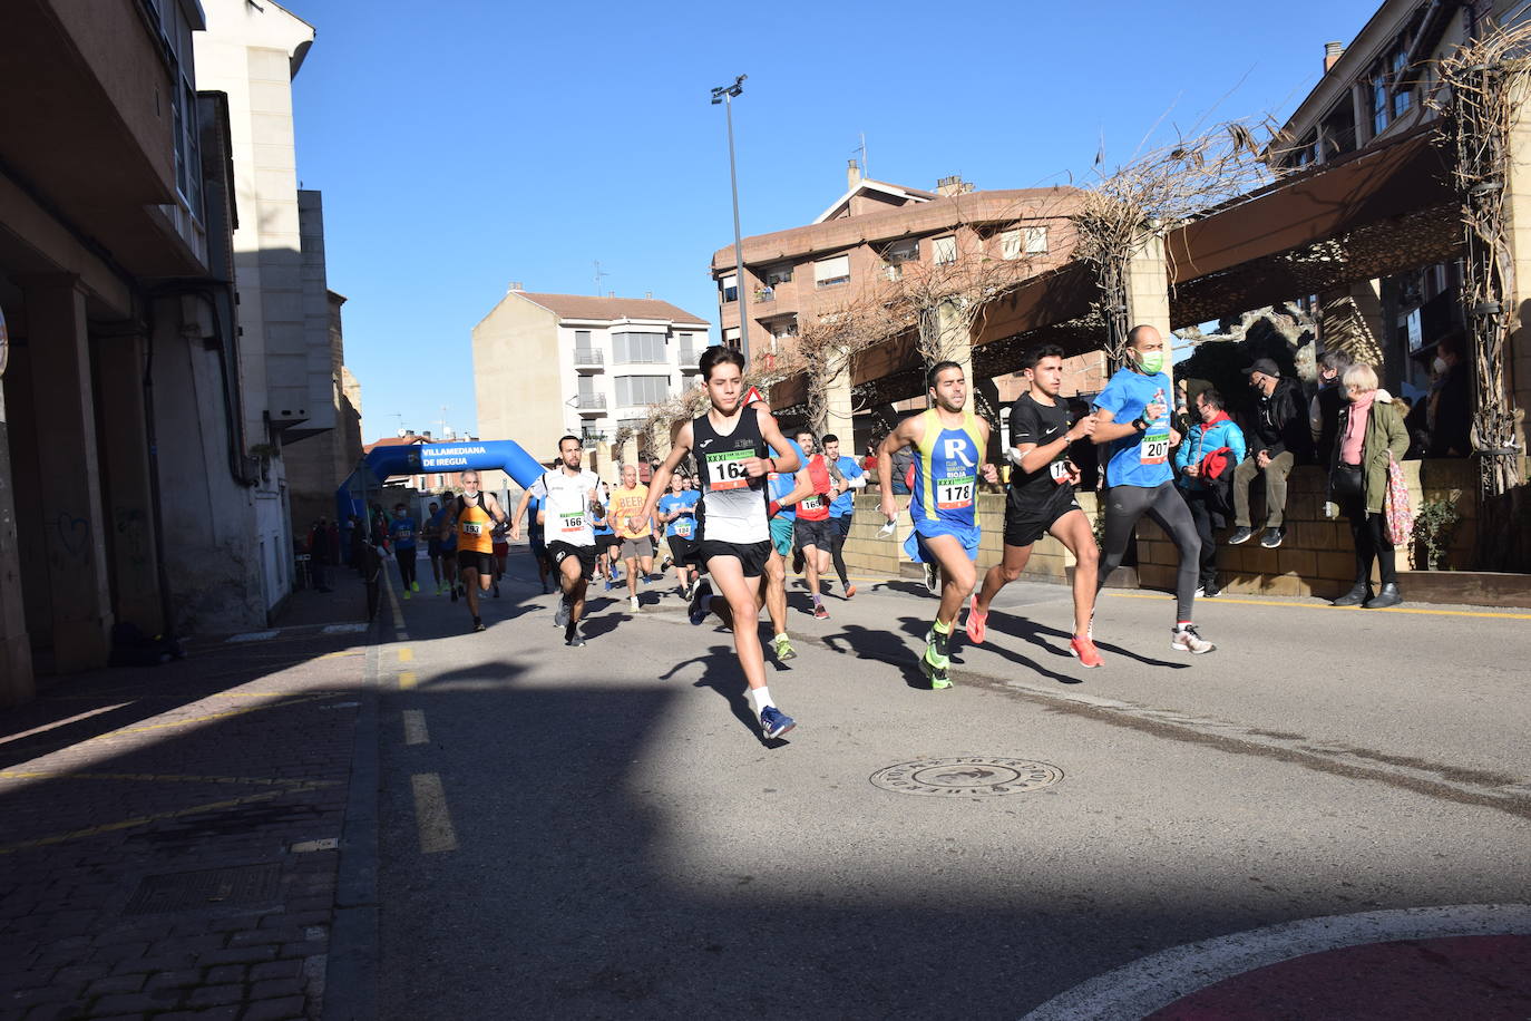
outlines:
M1174 392L1164 370L1164 337L1153 326L1133 326L1127 335L1127 366L1095 398L1098 426L1092 439L1110 444L1105 465L1105 559L1095 582L1096 592L1127 554L1133 527L1144 514L1153 517L1180 551L1176 576L1176 617L1170 648L1193 655L1217 646L1203 640L1191 623L1196 583L1200 574L1202 539L1191 508L1174 490L1170 447L1180 442L1170 426L1165 395ZM1093 637L1093 635L1092 635Z

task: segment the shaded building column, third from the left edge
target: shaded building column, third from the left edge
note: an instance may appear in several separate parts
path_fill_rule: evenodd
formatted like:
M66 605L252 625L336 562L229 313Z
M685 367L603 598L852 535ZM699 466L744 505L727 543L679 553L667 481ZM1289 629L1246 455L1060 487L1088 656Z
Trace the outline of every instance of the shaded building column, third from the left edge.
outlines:
M118 620L145 635L165 629L159 599L159 550L153 528L153 481L149 468L149 432L144 426L144 338L110 337L95 341L101 370L101 416L110 422L101 436L106 464L107 542ZM185 395L159 393L179 401Z

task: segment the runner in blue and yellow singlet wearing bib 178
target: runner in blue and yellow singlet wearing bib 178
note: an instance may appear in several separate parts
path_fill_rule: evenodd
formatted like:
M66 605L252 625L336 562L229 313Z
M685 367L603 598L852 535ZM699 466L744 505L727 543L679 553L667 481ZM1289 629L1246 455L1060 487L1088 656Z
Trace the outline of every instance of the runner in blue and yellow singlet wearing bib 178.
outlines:
M995 467L983 461L989 447L989 422L963 410L968 380L955 361L939 361L925 373L934 404L922 415L911 415L888 433L877 453L877 485L882 513L897 520L899 504L893 494L893 456L905 447L914 450L914 494L909 514L914 533L905 550L916 560L939 563L943 576L942 605L925 635L926 649L920 669L932 689L951 687L951 641L957 612L978 583L978 478L994 482Z

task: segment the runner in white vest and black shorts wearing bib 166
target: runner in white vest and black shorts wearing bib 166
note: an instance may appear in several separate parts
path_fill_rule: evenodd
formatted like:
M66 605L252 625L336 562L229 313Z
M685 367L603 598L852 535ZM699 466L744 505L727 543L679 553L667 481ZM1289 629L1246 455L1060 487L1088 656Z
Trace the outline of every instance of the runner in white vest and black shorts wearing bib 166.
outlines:
M559 439L557 467L539 475L521 496L510 524L510 536L521 539L521 517L527 513L527 505L534 499L542 501L542 531L544 536L551 536L548 557L557 565L559 588L563 592L553 623L563 626L563 644L574 648L585 644L579 625L585 617L585 589L596 572L592 525L606 517L606 508L599 499L600 478L580 467L583 458L585 447L579 436Z

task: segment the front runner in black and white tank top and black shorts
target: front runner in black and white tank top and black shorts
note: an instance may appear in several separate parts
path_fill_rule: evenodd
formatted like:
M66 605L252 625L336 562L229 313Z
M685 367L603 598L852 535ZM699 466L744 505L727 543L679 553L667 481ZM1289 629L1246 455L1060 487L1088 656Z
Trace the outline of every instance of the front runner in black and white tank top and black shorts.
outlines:
M743 406L744 355L732 347L707 347L700 367L712 409L677 430L669 456L649 482L648 502L629 524L637 527L654 514L675 465L695 452L701 507L692 560L706 568L710 582L700 580L692 592L690 623L700 625L707 612L717 612L733 629L733 648L761 732L779 738L796 724L772 703L761 652L761 574L772 551L766 476L796 471L798 455L772 415ZM713 585L718 597L712 594Z

